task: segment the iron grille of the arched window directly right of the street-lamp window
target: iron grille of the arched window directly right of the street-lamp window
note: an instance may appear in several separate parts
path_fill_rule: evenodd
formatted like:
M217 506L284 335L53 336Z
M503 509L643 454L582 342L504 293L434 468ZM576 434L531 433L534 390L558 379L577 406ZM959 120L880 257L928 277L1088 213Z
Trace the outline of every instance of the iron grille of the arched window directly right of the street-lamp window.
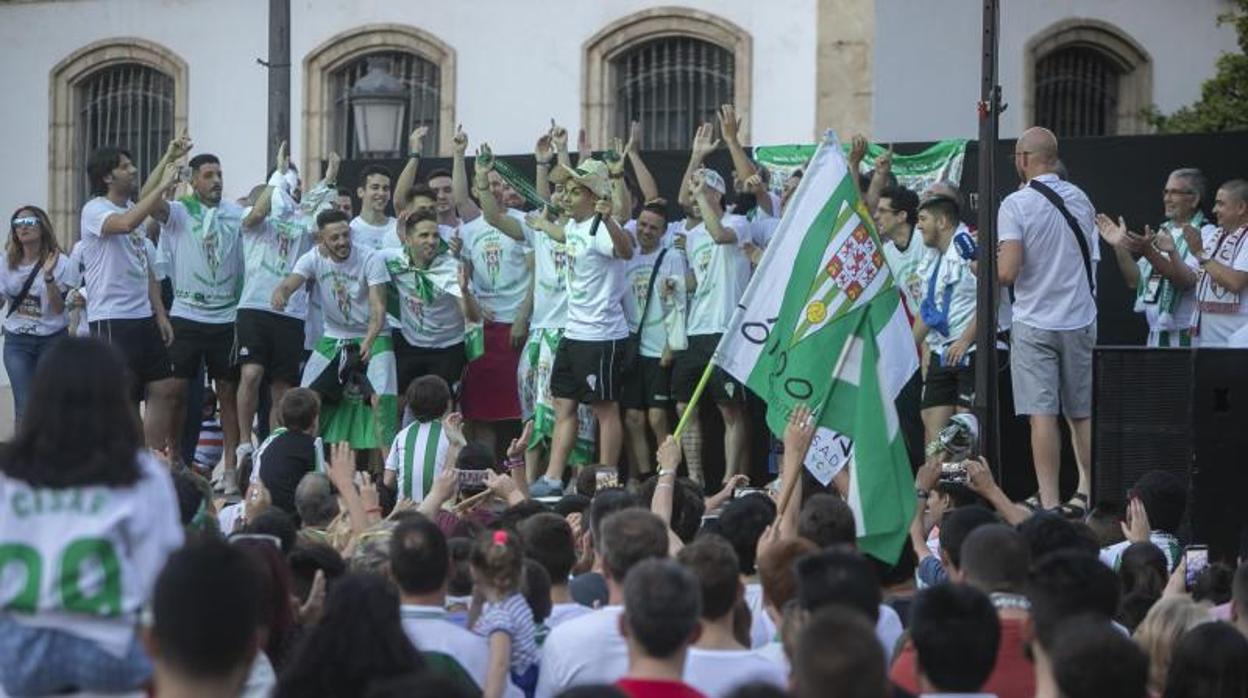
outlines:
M646 41L612 61L615 110L612 132L628 139L641 122L648 150L686 150L704 122L718 124L733 104L733 51L688 36Z

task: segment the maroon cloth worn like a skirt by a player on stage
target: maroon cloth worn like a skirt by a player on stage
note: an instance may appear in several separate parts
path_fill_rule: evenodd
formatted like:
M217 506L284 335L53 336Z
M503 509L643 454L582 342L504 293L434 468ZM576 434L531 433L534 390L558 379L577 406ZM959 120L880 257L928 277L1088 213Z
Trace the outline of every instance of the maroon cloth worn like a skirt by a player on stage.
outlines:
M473 422L519 420L515 367L520 363L520 350L512 348L512 326L487 322L484 333L485 353L464 371L459 408L464 420Z

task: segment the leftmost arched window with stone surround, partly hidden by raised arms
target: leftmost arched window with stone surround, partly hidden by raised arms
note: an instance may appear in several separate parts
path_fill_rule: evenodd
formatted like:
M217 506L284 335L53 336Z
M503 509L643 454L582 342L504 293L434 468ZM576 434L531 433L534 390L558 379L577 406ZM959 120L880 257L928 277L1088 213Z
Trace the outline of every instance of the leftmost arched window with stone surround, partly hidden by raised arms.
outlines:
M124 147L146 177L186 127L187 67L165 46L117 37L74 51L52 67L50 81L47 214L67 247L79 238L91 151Z

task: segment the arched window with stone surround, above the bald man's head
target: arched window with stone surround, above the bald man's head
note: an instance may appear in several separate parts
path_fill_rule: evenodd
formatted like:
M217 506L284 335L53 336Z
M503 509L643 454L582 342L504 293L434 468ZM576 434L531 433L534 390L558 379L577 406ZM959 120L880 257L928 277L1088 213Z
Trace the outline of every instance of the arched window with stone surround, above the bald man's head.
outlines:
M1148 54L1116 27L1060 22L1028 44L1031 124L1058 136L1111 136L1144 129L1152 104Z

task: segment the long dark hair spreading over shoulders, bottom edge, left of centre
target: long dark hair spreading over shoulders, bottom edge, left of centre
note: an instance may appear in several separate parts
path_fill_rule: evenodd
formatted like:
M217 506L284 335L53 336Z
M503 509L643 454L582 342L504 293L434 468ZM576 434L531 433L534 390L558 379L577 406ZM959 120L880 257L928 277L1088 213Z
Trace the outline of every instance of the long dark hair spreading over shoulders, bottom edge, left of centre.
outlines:
M212 604L203 604L212 606ZM419 671L424 661L398 614L398 593L377 574L344 574L282 671L275 696L354 696L373 679Z

